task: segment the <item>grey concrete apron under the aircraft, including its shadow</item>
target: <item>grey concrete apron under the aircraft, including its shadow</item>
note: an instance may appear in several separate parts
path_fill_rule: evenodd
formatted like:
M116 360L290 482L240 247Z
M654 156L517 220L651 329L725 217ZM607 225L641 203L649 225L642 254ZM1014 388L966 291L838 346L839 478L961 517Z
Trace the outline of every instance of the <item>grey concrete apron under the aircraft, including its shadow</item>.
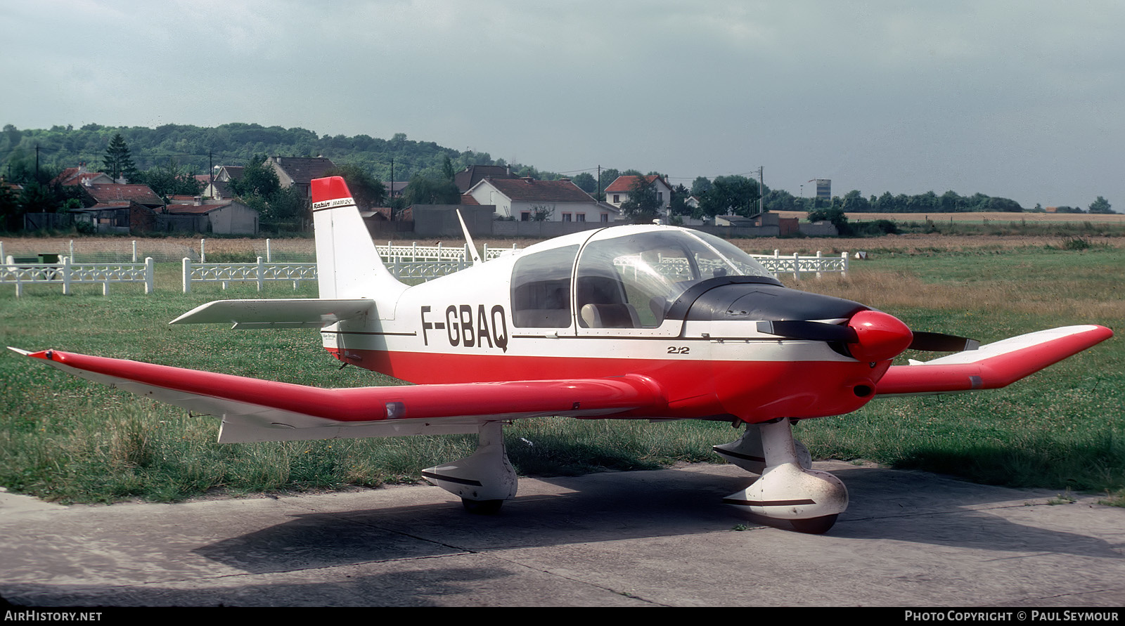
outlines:
M816 463L848 487L826 535L721 498L732 465L520 480L497 516L405 486L177 505L0 493L14 606L1110 607L1125 508ZM1084 610L1084 609L1083 609Z

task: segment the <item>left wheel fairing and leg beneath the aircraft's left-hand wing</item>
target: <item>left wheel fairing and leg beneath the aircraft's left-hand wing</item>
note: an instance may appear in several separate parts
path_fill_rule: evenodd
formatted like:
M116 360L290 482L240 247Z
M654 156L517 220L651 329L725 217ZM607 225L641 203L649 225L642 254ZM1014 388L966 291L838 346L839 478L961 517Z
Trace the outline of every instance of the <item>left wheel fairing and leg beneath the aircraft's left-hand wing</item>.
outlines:
M478 515L500 512L504 500L515 498L515 469L504 452L503 425L480 426L471 456L422 471L422 478L461 498L465 510Z

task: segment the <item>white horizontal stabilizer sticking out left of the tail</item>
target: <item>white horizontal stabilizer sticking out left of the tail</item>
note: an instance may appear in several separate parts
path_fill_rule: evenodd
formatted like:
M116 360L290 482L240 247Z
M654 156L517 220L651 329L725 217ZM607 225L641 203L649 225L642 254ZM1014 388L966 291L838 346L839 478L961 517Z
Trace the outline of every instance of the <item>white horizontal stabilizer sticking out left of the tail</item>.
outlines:
M235 328L323 328L371 315L375 300L313 298L216 300L181 315L170 324L233 324Z

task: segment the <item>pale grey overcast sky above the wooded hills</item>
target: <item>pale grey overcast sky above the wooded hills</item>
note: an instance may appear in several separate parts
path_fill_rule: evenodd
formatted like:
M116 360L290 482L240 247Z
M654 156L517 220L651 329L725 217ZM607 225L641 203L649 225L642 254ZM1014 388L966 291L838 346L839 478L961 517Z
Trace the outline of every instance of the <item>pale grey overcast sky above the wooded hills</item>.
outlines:
M242 121L539 170L1125 212L1125 2L0 0L0 124Z

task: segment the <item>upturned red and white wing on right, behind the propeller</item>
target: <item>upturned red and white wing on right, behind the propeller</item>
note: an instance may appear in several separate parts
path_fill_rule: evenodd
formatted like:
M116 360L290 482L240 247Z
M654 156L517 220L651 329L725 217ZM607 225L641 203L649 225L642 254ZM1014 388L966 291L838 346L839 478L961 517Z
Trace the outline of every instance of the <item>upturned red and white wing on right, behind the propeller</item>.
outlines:
M919 396L999 389L1108 339L1104 326L1066 326L958 352L925 363L893 365L875 385L879 396Z

